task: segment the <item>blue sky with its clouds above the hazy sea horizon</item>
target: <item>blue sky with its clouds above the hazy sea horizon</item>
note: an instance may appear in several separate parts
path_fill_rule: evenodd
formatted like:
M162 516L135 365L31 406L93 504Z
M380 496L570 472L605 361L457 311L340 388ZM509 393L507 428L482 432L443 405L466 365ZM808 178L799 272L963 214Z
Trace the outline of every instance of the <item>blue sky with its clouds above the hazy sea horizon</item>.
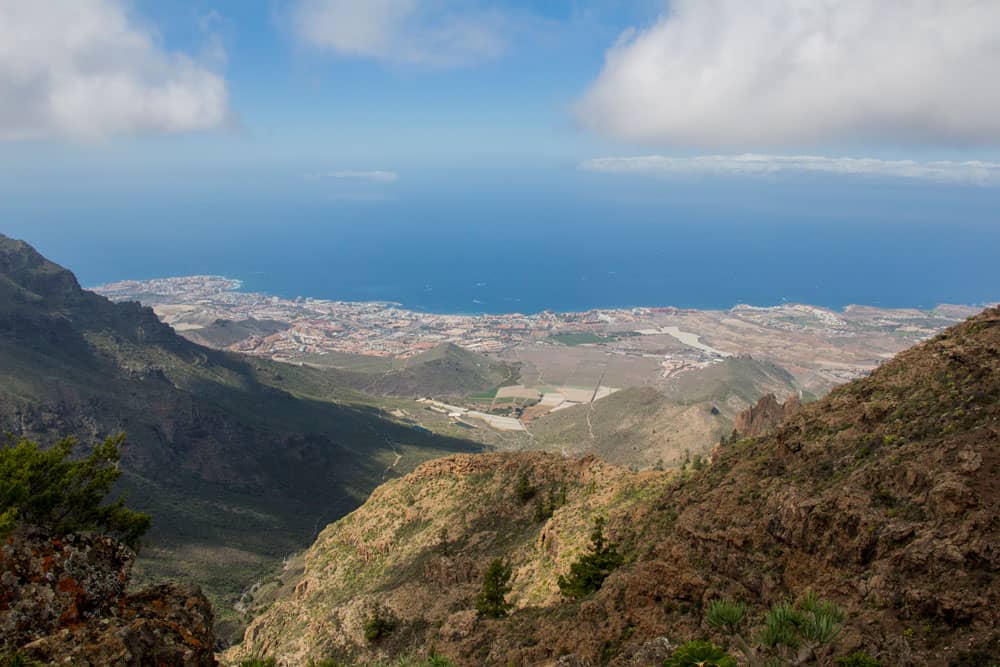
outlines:
M988 85L998 38L988 19L1000 10L991 3L963 16L948 9L963 3L858 10L872 3L844 0L826 3L842 9L806 17L796 7L810 3L781 0L755 8L734 0L43 0L37 16L19 16L30 12L15 11L18 4L0 2L0 29L25 43L24 54L20 45L0 54L8 166L197 158L385 169L747 151L998 156L1000 93ZM42 50L28 43L35 35L36 44L73 39L73 15L88 12L98 24L89 42L31 52ZM70 27L55 27L60 14ZM889 29L906 19L934 29ZM149 44L135 49L136 39ZM37 62L21 68L25 75L18 60ZM217 90L181 72L181 61ZM107 96L93 92L37 126L7 118L42 107L29 98L24 110L6 109L17 105L19 83L53 99L65 92L52 83L60 77L68 89L102 75L135 84L130 116L101 119L87 107ZM163 106L157 94L168 86L200 113L143 110Z

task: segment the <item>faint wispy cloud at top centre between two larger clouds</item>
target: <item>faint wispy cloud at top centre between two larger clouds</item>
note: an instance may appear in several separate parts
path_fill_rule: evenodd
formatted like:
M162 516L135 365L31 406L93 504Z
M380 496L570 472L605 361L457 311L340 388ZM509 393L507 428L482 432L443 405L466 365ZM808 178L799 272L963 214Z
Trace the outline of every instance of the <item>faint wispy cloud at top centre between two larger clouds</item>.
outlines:
M450 67L505 48L506 18L457 0L300 0L296 35L344 56Z

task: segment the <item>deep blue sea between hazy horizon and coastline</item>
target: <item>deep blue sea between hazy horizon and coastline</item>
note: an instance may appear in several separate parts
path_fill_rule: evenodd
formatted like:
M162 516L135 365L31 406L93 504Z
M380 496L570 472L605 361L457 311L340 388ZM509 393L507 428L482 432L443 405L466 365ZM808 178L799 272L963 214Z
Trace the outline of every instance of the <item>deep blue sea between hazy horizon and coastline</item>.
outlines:
M284 297L442 313L1000 299L995 188L609 178L151 188L0 207L0 232L85 286L221 274Z

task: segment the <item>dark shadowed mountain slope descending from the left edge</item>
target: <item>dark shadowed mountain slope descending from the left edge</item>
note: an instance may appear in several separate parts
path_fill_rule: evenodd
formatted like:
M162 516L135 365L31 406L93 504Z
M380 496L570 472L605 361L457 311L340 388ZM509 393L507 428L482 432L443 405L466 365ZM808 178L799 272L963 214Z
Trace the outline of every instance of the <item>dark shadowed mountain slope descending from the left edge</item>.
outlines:
M127 432L123 487L155 517L139 574L195 578L220 613L387 474L473 449L329 400L342 393L317 369L191 343L0 236L0 428Z

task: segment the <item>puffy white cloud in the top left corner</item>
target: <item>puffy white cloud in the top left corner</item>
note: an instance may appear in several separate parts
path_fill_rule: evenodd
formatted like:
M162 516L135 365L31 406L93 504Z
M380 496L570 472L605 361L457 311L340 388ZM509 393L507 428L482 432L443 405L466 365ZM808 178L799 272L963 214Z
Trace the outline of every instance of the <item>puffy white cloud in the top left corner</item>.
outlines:
M122 0L0 0L0 140L207 130L225 81L168 53Z

